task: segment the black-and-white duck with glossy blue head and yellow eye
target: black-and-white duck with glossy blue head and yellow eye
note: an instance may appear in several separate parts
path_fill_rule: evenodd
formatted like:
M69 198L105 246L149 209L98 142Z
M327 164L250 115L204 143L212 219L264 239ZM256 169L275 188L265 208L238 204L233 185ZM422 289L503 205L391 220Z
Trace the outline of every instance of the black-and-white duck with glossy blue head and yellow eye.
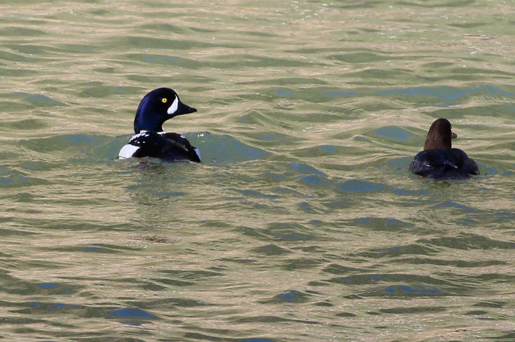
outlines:
M163 123L173 117L197 110L181 102L170 88L154 89L143 97L134 117L134 133L118 153L121 159L158 158L167 162L200 163L200 152L178 133L165 133Z

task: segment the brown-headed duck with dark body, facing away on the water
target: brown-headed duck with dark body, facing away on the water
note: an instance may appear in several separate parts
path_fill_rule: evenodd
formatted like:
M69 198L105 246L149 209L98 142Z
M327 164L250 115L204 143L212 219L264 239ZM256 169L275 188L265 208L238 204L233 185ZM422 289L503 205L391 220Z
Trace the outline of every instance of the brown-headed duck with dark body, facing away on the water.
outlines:
M451 140L456 137L449 120L435 120L427 132L424 150L415 156L408 170L433 179L467 179L478 175L474 159L465 151L452 148Z

